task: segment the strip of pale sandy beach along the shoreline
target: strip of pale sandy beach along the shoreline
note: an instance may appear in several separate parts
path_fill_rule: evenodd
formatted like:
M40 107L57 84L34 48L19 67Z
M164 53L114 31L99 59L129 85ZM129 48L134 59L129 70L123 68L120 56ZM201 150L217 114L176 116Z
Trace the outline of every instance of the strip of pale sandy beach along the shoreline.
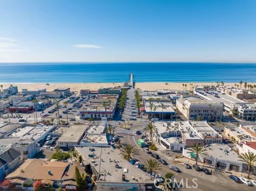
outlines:
M185 83L187 85L186 89L190 90L190 83L192 83L192 86L196 85L217 85L217 83L214 82L204 82L204 83L194 83L189 82ZM1 83L0 83L1 84ZM234 83L225 83L225 86L234 86ZM236 83L238 84L238 82ZM250 84L256 84L256 83L250 83ZM3 89L8 88L10 86L10 83L2 83ZM47 91L53 91L54 89L58 87L70 87L71 91L78 92L80 89L90 89L90 90L98 90L99 88L103 87L117 87L117 86L123 86L123 83L49 83L49 85L46 85L45 83L13 83L12 85L18 86L18 91L21 92L22 89L29 89L29 90L36 90L39 88L46 88ZM183 89L183 83L173 83L173 82L145 82L145 83L136 83L135 87L140 88L142 90L157 90L157 89ZM242 88L243 84L242 84Z

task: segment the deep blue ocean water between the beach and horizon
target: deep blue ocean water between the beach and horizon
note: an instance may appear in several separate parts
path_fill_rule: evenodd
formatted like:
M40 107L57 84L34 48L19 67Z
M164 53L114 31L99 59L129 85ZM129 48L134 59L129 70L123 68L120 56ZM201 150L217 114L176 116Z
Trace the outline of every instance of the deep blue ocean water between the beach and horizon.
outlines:
M0 63L0 83L256 82L256 63Z

